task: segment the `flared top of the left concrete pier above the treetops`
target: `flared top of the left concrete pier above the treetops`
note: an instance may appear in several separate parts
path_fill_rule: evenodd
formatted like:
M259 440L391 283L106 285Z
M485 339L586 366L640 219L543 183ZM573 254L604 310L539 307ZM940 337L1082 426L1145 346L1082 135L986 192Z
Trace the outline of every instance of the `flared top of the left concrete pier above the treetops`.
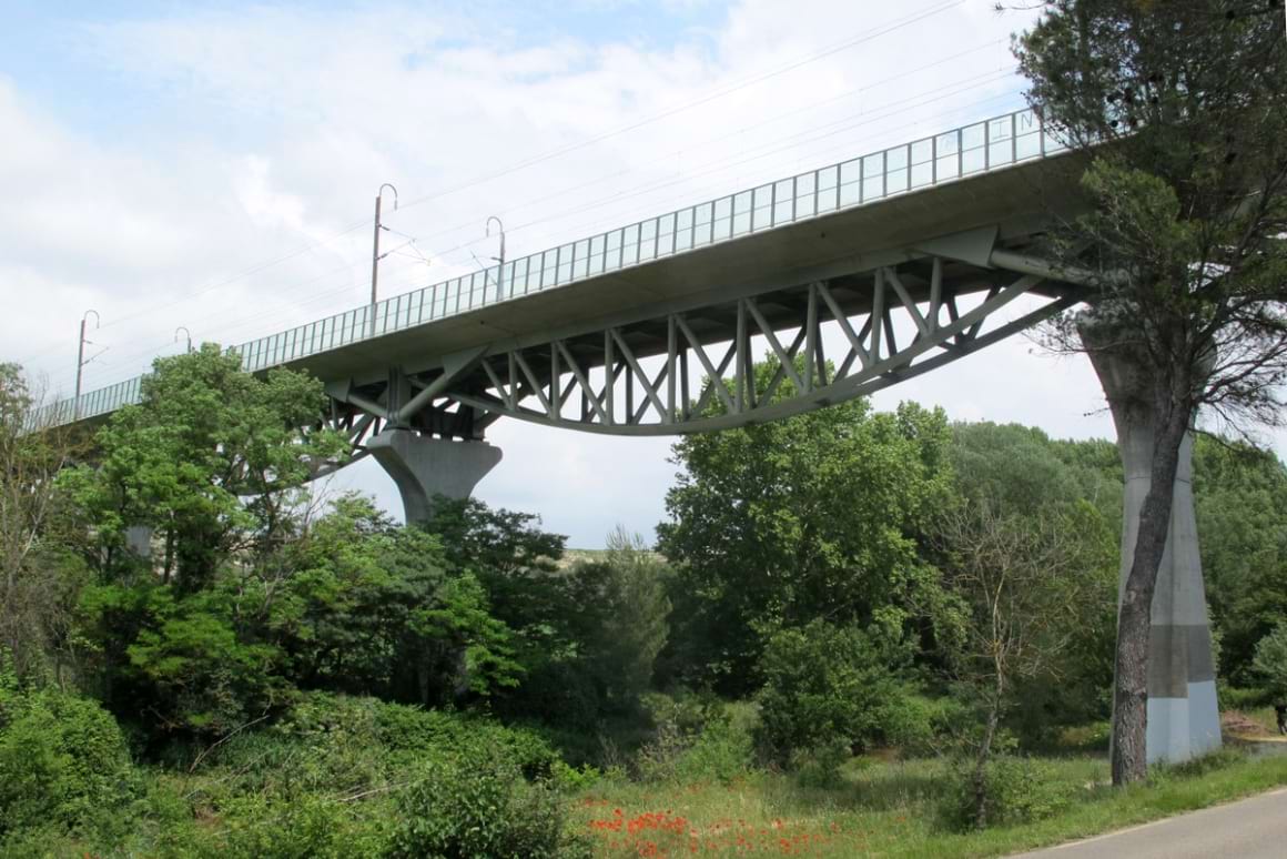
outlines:
M367 448L398 484L408 524L429 519L435 495L470 497L501 461L501 448L486 442L452 442L403 429L380 433Z

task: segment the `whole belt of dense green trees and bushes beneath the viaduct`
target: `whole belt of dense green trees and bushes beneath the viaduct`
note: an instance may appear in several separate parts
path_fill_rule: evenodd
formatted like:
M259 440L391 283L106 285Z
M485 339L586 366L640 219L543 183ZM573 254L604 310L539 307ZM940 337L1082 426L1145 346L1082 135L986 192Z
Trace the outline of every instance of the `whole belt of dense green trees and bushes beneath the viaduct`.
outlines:
M93 437L28 433L4 368L0 855L686 850L677 814L597 797L825 807L891 751L931 837L1067 809L1088 764L1031 756L1102 752L1111 443L865 402L687 437L655 550L568 560L477 501L403 527L311 497L320 402L207 348ZM1196 491L1221 681L1268 703L1287 470L1201 438Z

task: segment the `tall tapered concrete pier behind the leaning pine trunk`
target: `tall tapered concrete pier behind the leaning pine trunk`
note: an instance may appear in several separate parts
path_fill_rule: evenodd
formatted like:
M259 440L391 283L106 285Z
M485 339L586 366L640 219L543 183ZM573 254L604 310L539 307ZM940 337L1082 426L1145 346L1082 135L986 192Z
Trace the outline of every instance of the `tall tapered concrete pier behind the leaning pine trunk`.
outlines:
M1109 348L1113 339L1104 327L1084 318L1079 328L1108 397L1125 467L1120 596L1135 554L1139 511L1152 484L1153 407L1148 371L1127 349ZM1193 513L1192 433L1180 447L1171 522L1149 617L1145 755L1149 764L1185 761L1220 746L1211 625Z

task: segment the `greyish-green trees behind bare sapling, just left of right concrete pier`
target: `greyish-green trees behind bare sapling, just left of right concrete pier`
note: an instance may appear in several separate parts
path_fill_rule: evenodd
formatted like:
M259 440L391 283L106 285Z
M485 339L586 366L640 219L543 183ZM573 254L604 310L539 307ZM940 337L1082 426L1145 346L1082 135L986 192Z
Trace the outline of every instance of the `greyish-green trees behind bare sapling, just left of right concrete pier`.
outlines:
M961 504L940 519L937 565L967 610L955 635L938 641L945 667L976 686L972 703L999 706L1030 742L1107 717L1121 518L1116 448L1014 425L956 425L952 435ZM1000 699L994 654L1005 654Z

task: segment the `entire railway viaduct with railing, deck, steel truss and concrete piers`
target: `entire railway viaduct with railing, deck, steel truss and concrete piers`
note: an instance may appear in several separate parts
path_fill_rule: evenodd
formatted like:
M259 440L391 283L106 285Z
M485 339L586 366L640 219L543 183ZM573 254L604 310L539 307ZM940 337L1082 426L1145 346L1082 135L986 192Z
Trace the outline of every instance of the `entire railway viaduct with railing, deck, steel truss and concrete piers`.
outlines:
M994 117L704 201L261 337L248 372L319 377L351 455L408 522L501 461L502 417L588 433L719 430L824 408L928 372L1088 297L1042 259L1075 212L1081 156L1031 112ZM1094 337L1089 337L1093 340ZM1094 344L1090 344L1094 345ZM772 379L757 390L753 362ZM1151 407L1129 357L1094 354L1126 469L1125 578L1149 486ZM55 403L99 421L140 379ZM997 380L996 384L1004 384ZM1148 759L1220 743L1190 487L1176 477L1152 607Z

